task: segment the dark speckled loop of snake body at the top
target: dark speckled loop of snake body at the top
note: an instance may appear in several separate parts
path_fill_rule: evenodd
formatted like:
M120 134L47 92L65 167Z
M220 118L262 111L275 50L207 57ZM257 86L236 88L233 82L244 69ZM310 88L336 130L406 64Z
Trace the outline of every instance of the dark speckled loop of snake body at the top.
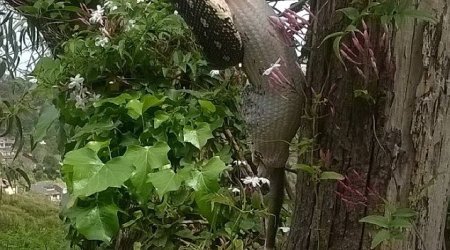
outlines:
M242 39L225 0L172 0L191 27L207 61L216 68L242 62Z

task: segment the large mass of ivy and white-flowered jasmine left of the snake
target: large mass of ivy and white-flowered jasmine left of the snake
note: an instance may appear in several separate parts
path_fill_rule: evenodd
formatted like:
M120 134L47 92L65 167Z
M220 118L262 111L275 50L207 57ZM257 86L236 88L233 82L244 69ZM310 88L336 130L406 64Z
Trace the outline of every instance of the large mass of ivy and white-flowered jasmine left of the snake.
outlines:
M210 76L163 1L109 1L97 20L88 12L86 29L34 70L56 109L44 106L33 145L59 128L72 244L258 247L260 194L228 189L239 169L227 166L233 151L223 134L242 137L239 75Z

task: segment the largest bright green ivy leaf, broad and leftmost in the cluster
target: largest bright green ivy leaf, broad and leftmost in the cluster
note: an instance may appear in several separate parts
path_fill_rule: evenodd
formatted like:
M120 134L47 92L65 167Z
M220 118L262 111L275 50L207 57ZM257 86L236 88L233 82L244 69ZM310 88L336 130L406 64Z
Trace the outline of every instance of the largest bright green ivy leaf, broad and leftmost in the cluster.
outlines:
M118 187L133 172L132 163L124 157L116 157L104 164L90 148L81 148L66 154L64 165L70 165L74 196L89 196Z

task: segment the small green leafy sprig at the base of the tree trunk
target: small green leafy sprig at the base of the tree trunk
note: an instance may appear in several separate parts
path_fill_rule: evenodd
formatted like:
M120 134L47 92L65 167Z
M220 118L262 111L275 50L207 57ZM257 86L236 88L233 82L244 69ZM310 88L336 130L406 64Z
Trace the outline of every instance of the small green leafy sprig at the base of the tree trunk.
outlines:
M413 226L411 220L415 216L416 212L410 208L397 208L386 202L384 216L369 215L359 221L378 228L370 246L371 249L374 249L383 242L404 239L405 229Z

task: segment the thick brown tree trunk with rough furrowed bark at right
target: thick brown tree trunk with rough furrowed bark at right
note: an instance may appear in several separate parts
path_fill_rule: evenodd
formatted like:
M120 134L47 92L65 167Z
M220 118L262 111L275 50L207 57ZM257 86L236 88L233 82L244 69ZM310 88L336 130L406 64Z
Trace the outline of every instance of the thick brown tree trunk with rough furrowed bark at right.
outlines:
M298 175L288 249L370 249L376 231L358 221L383 215L381 198L417 212L406 238L381 249L443 249L450 184L450 3L415 5L435 15L433 25L406 18L385 33L375 20L366 20L372 23L370 47L379 73L363 65L358 74L345 58L344 69L333 39L319 47L326 35L345 28L336 10L350 2L312 1L317 19L307 73L311 87L328 100L321 108L325 118L312 131L322 152L331 153L329 169L347 179L345 185L316 184ZM349 37L342 43L350 47ZM358 90L370 96L356 97Z

